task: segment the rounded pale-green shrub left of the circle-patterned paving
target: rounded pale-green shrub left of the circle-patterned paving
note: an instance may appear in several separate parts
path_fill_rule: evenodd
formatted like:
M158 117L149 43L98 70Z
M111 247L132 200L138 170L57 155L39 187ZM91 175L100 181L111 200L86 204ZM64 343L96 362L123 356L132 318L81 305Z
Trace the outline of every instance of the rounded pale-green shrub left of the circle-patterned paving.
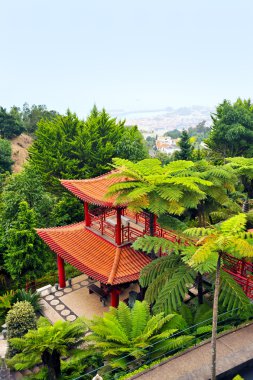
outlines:
M32 305L27 301L17 302L6 316L7 338L21 338L29 330L37 328L36 315ZM9 342L9 356L17 353Z

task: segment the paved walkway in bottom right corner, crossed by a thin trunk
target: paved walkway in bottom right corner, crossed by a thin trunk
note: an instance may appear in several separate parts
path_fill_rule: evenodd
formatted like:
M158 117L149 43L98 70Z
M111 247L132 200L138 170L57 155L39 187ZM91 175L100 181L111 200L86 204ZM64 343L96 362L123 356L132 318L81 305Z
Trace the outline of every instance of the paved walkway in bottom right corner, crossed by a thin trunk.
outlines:
M217 375L253 357L253 324L218 338ZM132 379L209 380L211 347L206 343Z

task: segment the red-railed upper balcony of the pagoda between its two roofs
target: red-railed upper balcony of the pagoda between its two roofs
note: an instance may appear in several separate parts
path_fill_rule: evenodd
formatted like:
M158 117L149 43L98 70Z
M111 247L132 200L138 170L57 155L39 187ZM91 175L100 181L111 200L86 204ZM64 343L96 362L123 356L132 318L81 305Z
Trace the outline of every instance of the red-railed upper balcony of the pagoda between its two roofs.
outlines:
M115 242L117 233L117 218L115 209L97 208L89 211L89 229L104 239ZM139 237L150 235L149 215L145 212L133 213L127 209L123 210L121 216L121 245L133 243ZM178 241L178 236L172 231L161 228L156 222L154 224L154 235L163 237L170 241Z

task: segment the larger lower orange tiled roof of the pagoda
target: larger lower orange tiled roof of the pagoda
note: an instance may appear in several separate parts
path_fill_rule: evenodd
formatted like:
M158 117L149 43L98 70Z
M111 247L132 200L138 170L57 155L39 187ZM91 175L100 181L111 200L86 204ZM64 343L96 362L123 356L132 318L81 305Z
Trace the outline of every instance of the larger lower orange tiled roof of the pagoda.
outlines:
M137 280L150 262L129 245L116 247L85 228L84 222L64 227L37 229L44 242L66 262L104 284Z

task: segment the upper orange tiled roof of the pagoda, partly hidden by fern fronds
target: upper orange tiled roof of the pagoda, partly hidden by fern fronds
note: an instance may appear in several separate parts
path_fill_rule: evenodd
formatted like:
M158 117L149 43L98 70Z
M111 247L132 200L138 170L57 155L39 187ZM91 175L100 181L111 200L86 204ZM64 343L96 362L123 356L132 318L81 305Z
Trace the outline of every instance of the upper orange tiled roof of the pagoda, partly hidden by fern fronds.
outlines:
M78 198L88 203L93 203L104 207L120 207L124 205L115 205L116 197L105 198L108 188L124 179L110 178L112 172L91 179L81 180L61 180L61 184Z

